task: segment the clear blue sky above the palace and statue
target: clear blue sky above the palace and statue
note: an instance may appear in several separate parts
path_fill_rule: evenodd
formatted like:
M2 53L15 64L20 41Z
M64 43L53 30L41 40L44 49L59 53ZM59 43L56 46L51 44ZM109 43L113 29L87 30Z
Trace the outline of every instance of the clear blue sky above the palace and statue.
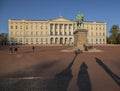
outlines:
M120 0L0 0L0 32L8 32L8 19L47 20L60 15L75 20L80 11L85 21L120 26Z

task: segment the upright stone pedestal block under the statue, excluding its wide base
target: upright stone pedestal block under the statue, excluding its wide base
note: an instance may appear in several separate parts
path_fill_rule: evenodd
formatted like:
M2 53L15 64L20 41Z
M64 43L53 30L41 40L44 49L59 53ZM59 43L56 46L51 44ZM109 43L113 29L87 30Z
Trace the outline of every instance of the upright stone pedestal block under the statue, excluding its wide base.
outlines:
M74 47L85 51L85 45L88 44L87 41L87 30L86 29L77 29L74 32Z

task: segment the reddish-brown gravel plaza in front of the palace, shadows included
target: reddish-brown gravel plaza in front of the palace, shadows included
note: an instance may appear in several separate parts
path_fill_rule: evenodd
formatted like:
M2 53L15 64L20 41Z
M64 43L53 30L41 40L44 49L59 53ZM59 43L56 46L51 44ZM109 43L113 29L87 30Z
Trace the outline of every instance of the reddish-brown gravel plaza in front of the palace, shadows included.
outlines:
M103 52L62 52L66 46L0 48L0 91L120 91L120 45Z

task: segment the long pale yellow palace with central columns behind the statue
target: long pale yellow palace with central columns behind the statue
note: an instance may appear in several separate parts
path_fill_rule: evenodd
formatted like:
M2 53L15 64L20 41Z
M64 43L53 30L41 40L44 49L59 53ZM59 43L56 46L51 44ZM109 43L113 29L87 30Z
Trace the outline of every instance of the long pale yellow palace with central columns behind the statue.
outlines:
M81 28L88 30L88 43L106 44L106 22L84 21ZM76 29L75 21L63 17L53 20L8 20L10 43L73 45Z

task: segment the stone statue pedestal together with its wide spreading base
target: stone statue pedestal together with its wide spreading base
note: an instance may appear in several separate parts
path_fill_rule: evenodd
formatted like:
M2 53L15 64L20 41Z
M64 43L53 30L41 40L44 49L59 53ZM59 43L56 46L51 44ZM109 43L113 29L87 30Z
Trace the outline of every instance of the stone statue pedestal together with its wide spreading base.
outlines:
M74 46L67 48L66 50L62 50L61 52L79 52L78 49L82 52L103 52L88 44L87 32L88 31L86 29L77 29L74 32Z

